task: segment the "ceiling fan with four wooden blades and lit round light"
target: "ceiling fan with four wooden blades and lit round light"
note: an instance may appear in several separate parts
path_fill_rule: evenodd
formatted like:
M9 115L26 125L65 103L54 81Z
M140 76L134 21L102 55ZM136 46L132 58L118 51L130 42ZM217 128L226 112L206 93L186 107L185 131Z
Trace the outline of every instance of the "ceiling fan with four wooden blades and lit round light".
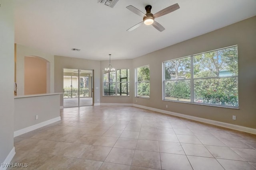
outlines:
M180 6L178 4L174 4L172 6L164 8L161 11L158 11L156 14L151 13L151 8L152 8L151 5L145 6L146 14L144 14L143 12L141 12L140 10L138 10L137 8L135 8L132 5L127 6L126 8L128 10L134 12L138 16L143 17L143 21L141 21L140 23L137 23L136 25L130 27L126 31L132 31L132 30L138 28L140 25L142 25L144 23L145 25L153 25L153 27L155 27L158 31L162 32L162 31L164 31L165 28L160 23L156 22L155 18L158 18L160 16L169 14L170 12L174 12L175 10L178 10L180 8Z

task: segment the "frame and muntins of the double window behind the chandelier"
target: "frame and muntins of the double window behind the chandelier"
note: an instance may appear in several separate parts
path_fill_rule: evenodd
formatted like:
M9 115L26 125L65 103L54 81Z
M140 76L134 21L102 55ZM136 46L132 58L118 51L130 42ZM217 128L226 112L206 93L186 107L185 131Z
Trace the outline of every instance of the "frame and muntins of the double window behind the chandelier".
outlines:
M120 81L119 82L117 81L118 80L117 72L119 70L126 70L126 74L127 74L127 77L126 77L127 81L126 82L122 82L122 79L125 79L125 78L120 78ZM110 72L114 72L114 74L115 74L115 81L114 82L104 82L104 74L109 73L108 76L109 76L109 80L110 80ZM102 82L103 82L102 83L102 88L103 88L102 89L103 90L102 96L103 97L119 97L119 96L129 97L130 96L130 69L129 68L124 68L124 69L120 68L120 69L116 69L115 71L105 71L105 70L103 70ZM114 95L104 95L105 94L105 92L104 92L104 83L109 83L109 84L110 83L115 83L115 93L113 92ZM119 94L118 93L118 84L121 84L121 83L126 83L127 84L127 92L129 91L129 93L127 93L128 95L126 95L126 96L123 96L122 94L118 95ZM111 92L108 92L108 93L111 93Z

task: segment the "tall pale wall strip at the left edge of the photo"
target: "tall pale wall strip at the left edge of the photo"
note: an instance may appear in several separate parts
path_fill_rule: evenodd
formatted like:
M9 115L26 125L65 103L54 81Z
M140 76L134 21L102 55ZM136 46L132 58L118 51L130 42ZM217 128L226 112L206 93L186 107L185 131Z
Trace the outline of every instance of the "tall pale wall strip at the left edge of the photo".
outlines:
M14 15L12 0L0 0L0 4L0 72L4 73L0 78L1 164L14 148ZM13 155L10 155L9 159L11 156Z

